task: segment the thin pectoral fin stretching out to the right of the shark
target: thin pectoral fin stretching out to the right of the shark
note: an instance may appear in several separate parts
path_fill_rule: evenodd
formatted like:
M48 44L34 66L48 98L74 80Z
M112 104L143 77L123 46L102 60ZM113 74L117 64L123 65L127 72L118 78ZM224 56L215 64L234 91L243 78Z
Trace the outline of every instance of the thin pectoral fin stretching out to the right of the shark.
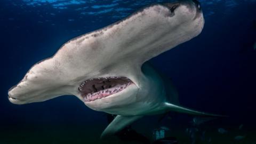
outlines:
M164 103L164 108L166 110L175 111L175 112L179 112L179 113L185 113L185 114L191 114L191 115L228 117L228 116L223 116L223 115L215 115L215 114L204 113L202 111L197 111L197 110L181 107L181 106L178 106L178 105L173 105L172 103L169 103L169 102Z

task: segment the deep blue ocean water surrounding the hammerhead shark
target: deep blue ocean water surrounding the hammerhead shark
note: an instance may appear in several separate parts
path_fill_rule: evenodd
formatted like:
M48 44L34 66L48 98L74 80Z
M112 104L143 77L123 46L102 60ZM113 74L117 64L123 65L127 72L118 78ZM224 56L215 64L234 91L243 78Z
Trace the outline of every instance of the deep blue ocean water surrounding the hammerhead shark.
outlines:
M0 144L140 143L100 140L107 115L74 96L14 105L7 92L69 39L161 2L168 1L1 0ZM145 116L131 127L150 142L153 131L165 127L179 143L256 143L256 1L199 2L202 33L149 62L172 79L182 106L228 117Z

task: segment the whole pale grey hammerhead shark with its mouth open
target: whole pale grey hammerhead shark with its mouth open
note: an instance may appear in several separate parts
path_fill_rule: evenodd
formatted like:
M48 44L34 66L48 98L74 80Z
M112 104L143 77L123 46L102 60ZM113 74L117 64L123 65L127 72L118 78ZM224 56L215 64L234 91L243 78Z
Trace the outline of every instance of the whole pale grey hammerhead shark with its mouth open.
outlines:
M201 6L195 0L150 5L63 44L53 57L30 68L9 90L9 100L21 105L75 95L93 110L118 115L102 137L144 115L166 111L211 115L179 106L173 86L166 86L145 63L197 36L203 26Z

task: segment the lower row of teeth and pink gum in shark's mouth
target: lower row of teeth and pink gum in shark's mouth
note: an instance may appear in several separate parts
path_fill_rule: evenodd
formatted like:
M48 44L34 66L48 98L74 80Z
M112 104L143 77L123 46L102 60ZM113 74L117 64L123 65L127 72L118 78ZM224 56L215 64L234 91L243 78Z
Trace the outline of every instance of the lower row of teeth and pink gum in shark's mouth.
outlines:
M111 87L109 89L100 90L98 92L88 93L84 97L84 101L85 102L90 102L90 101L94 101L94 100L97 100L97 99L102 99L102 98L108 97L111 94L115 94L115 93L118 93L118 92L124 90L131 83L132 82L129 82L129 83L124 84L124 85L119 85L119 86Z

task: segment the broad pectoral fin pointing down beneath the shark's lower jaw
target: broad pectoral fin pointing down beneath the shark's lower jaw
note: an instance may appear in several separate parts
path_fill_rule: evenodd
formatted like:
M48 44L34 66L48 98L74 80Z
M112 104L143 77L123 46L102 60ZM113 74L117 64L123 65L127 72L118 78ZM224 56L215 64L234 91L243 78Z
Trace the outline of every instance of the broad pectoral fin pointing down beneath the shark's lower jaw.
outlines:
M116 116L115 119L102 132L101 138L106 138L109 135L113 135L121 131L125 126L130 125L141 117L142 116Z

